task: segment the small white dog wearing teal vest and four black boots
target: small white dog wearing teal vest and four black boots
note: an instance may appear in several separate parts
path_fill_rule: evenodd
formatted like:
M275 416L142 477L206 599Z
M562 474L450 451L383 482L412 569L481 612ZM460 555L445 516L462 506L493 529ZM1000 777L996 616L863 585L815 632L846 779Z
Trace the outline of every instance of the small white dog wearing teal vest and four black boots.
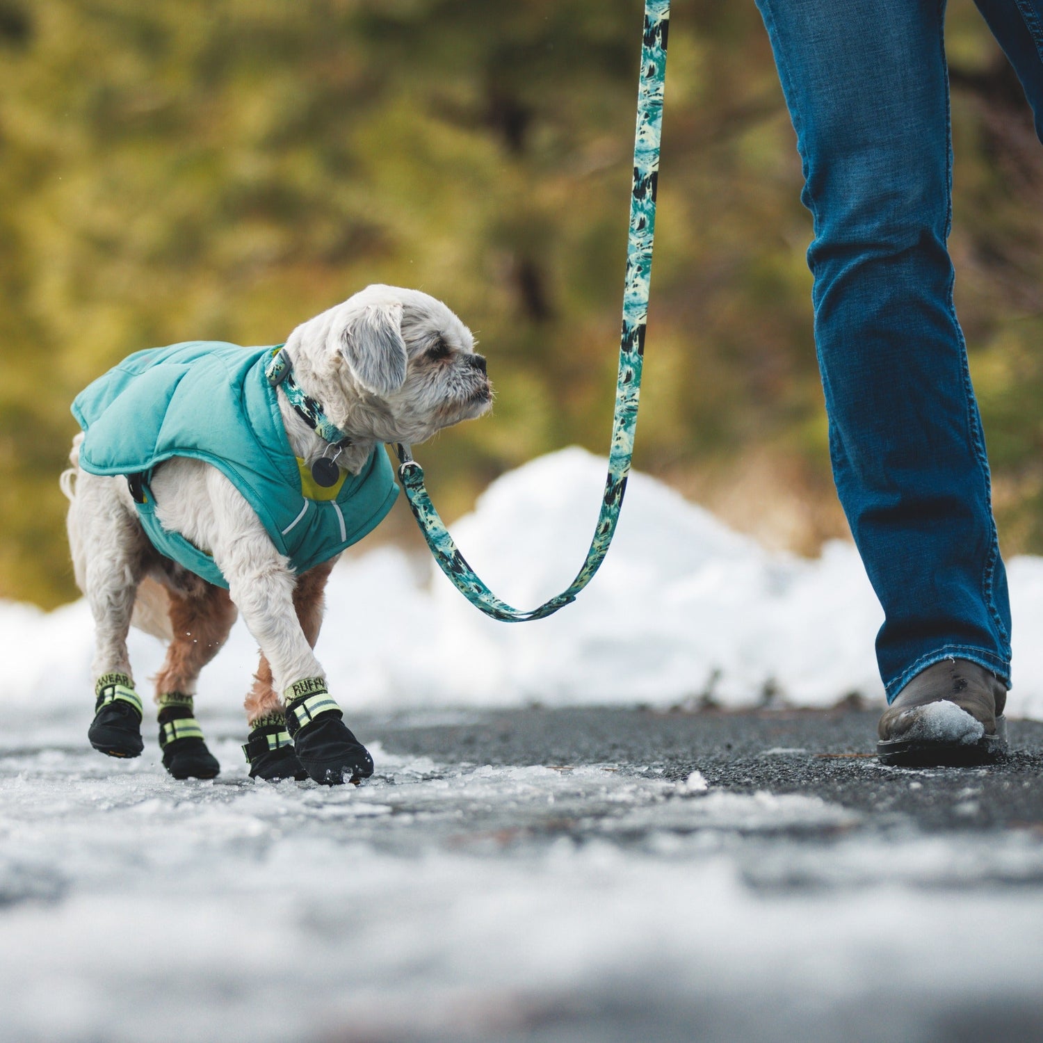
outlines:
M460 319L389 286L297 326L281 351L174 345L92 384L73 407L84 432L62 488L95 622L95 749L143 749L134 622L170 641L155 678L164 765L176 778L216 776L192 700L238 610L261 648L245 702L250 775L334 784L371 774L312 651L325 581L390 509L381 443L423 441L481 416L491 397Z

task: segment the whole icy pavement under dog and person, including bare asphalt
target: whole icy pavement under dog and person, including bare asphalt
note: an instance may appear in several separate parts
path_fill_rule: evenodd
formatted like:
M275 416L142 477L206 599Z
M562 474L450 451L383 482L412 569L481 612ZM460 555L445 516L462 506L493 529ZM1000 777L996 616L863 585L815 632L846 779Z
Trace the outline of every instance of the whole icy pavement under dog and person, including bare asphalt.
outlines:
M902 772L872 713L356 715L331 791L200 717L215 782L0 712L5 1041L1043 1035L1043 725Z

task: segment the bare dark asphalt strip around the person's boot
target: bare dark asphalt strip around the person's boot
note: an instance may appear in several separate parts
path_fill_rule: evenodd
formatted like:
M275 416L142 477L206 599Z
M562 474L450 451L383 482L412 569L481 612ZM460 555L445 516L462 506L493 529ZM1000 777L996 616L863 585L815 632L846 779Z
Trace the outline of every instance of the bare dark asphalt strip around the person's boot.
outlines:
M750 712L577 708L462 712L425 723L353 718L389 752L490 765L614 763L681 780L700 771L712 787L822 798L866 826L929 832L1030 830L1043 835L1043 722L1011 722L1011 754L983 768L900 769L873 754L879 712ZM795 825L802 831L803 826ZM785 831L785 827L780 827Z

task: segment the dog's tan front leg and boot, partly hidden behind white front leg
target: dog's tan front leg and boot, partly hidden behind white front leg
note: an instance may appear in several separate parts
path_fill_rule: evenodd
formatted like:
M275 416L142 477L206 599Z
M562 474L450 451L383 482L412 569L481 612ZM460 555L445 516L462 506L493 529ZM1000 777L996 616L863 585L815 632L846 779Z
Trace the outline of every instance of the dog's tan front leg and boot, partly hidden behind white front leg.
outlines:
M297 622L312 648L315 648L319 628L322 626L323 593L336 561L336 558L332 558L309 569L297 578L293 588L293 607L297 613ZM250 726L249 741L244 747L250 761L250 776L267 781L307 778L308 773L297 758L286 730L283 701L272 686L271 666L263 652L244 705Z

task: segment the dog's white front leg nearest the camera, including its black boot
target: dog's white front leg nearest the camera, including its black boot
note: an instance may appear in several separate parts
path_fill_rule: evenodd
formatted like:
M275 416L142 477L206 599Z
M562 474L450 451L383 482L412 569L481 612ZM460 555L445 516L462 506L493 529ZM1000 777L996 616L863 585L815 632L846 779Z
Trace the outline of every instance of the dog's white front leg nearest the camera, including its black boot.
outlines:
M280 708L265 717L263 727L272 730L271 734L259 735L259 722L251 722L254 728L247 756L256 742L264 741L277 751L292 738L304 771L316 782L336 785L367 778L373 771L372 758L348 730L329 694L325 672L297 617L293 597L297 581L289 562L223 475L212 471L207 484L214 507L215 531L209 540L214 560L270 664L275 692L284 698L285 725L272 719Z

